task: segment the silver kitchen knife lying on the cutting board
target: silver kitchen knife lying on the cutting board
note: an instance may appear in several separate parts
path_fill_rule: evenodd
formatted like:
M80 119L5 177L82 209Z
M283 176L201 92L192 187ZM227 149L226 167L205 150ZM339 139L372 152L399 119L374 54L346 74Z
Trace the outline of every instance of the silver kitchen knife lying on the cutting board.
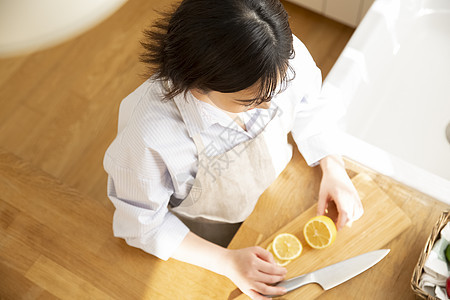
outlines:
M282 286L286 288L287 292L290 292L309 283L318 283L324 290L329 290L371 268L389 251L390 249L381 249L361 254L314 272L281 281L275 286ZM264 296L273 298L280 295Z

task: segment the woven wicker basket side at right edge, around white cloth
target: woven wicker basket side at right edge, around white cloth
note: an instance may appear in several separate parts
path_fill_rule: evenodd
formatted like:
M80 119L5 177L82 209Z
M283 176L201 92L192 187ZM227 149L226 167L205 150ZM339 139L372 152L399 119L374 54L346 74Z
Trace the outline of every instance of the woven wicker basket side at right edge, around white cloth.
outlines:
M414 293L422 299L439 300L438 298L430 296L424 290L419 288L419 280L420 276L422 276L423 266L428 258L428 255L431 252L431 249L433 248L434 242L436 242L436 240L439 238L439 234L442 228L444 228L449 221L450 221L450 211L444 211L439 217L439 220L437 221L436 225L433 227L433 231L431 232L431 235L428 237L425 248L423 249L422 254L419 257L419 261L417 262L417 265L414 269L414 273L411 278L411 288L413 289Z

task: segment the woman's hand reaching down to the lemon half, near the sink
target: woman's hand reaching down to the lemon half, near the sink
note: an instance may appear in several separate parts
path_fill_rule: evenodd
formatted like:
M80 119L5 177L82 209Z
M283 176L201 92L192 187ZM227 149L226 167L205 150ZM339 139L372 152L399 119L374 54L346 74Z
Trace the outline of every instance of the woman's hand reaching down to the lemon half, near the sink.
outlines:
M346 224L351 225L364 213L361 199L345 171L344 161L340 156L329 155L320 161L322 181L320 183L317 214L324 215L330 202L337 208L338 218L333 220L337 229Z

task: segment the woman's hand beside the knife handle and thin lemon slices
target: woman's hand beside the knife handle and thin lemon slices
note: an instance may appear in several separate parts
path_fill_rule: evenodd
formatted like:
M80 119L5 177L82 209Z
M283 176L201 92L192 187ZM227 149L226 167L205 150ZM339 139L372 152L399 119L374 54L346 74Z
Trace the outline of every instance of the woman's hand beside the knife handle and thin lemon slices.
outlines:
M272 254L258 246L227 250L223 275L252 299L269 299L263 295L284 295L283 287L271 286L284 279L286 268L278 266Z

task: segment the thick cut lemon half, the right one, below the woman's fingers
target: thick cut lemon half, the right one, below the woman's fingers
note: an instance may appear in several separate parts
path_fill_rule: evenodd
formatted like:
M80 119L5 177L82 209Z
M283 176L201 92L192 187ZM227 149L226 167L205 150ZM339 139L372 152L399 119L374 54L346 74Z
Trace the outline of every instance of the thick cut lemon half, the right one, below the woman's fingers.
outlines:
M336 225L327 216L311 218L303 228L306 242L314 249L330 246L336 239Z

